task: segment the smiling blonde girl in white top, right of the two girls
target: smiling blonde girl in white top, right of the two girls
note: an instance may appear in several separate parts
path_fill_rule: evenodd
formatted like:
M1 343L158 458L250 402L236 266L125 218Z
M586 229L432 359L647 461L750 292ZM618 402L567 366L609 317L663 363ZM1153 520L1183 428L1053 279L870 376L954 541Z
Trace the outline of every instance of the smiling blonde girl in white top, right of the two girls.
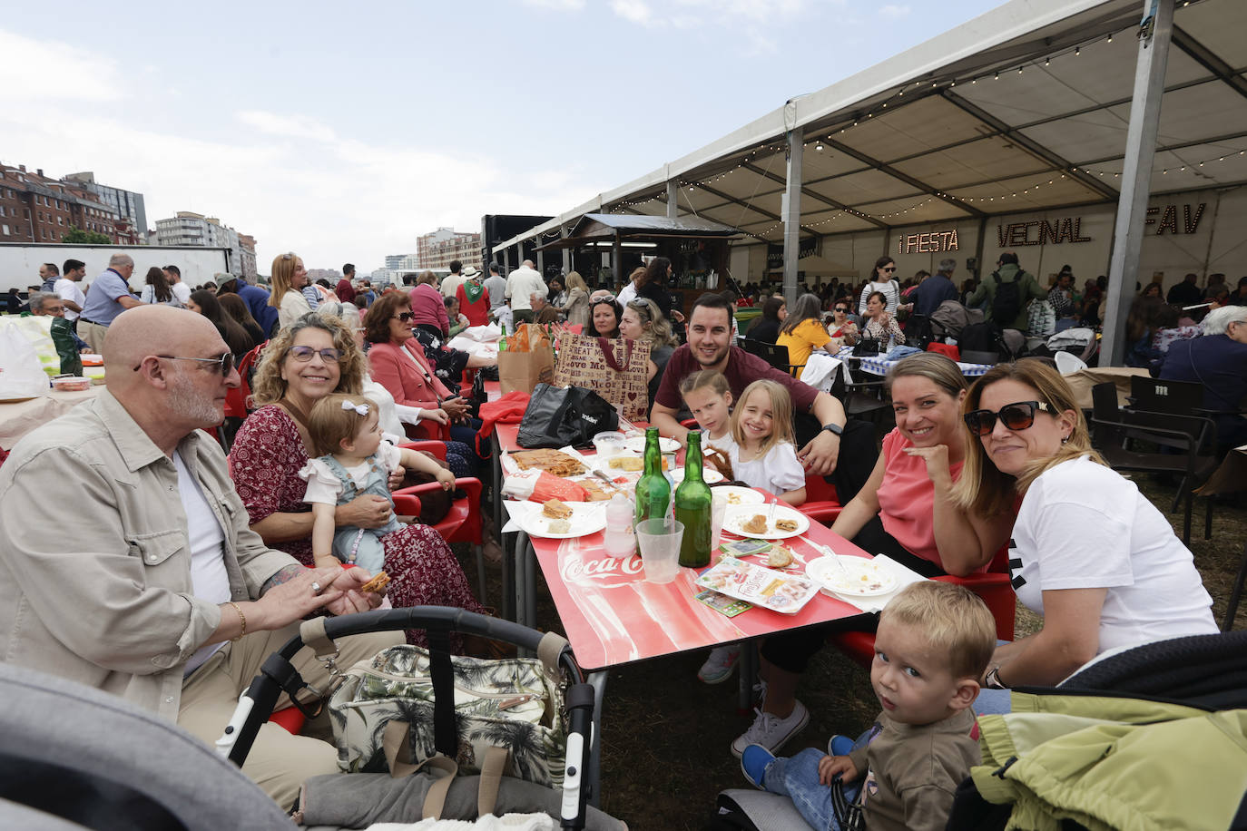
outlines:
M749 487L788 505L806 501L806 468L797 461L792 397L777 381L753 381L732 411L732 470Z

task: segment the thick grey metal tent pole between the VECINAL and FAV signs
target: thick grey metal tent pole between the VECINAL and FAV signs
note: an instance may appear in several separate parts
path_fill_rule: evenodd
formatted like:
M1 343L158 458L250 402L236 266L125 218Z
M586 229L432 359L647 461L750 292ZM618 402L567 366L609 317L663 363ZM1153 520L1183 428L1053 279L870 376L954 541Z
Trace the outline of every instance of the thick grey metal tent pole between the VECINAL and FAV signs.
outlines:
M1104 315L1104 340L1100 343L1101 366L1120 366L1126 354L1126 315L1135 299L1139 255L1146 228L1143 223L1160 128L1165 67L1173 32L1173 2L1143 2L1143 21L1150 30L1143 30L1139 39L1135 97L1126 128L1126 158L1121 169L1121 197L1117 199L1112 260L1109 264L1109 306Z

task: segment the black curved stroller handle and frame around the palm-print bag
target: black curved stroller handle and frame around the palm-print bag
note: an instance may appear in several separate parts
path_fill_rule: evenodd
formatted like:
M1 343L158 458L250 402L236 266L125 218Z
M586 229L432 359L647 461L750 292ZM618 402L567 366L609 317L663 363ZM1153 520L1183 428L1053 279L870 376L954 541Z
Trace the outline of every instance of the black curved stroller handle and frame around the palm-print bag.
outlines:
M450 760L455 759L459 749L454 704L455 678L450 659L451 633L479 635L491 640L515 644L516 647L536 653L547 670L552 670L554 673L561 672L566 683L564 696L564 718L567 723L566 762L564 766L561 797L546 801L557 805L560 827L562 829L584 829L586 826L587 811L602 816L596 809L587 807L590 797L589 780L584 775L585 766L590 762L590 756L597 750L591 743L594 688L584 683L582 674L576 665L575 658L571 654L571 647L567 645L566 639L557 634L544 634L509 620L451 607L385 609L337 618L313 618L306 622L301 627L298 635L264 660L261 673L239 698L233 718L231 718L221 739L217 740L217 751L241 767L247 759L247 754L261 725L268 720L282 691L286 691L299 709L304 709L304 705L299 704L297 694L309 688L291 664L291 658L299 649L304 647L314 648L318 659L332 662L333 655L337 654L337 649L332 643L334 638L367 632L402 629L424 629L428 633L430 674L434 690L433 734L438 753ZM339 668L339 672L345 669L349 668ZM304 714L315 715L307 710L304 710ZM340 776L360 777L355 781L363 781L362 777L369 775L342 774L335 776L335 779ZM393 797L389 792L393 790L392 780L389 780L388 775L380 776L380 779L383 781L379 782L382 789L378 790L378 794L384 794L387 799ZM508 781L506 777L503 777L503 780ZM450 782L450 787L455 787L455 782L458 781ZM486 782L486 777L483 774L479 782L480 792L484 795L488 787L496 789L496 777L494 782ZM527 787L529 791L539 789L536 785L519 780L514 780L514 784ZM378 785L378 782L372 782L372 785ZM547 789L540 790L546 791ZM429 791L431 799L433 787ZM524 797L518 795L516 799L522 801ZM420 801L423 801L423 797ZM483 814L486 811L485 805L490 805L488 810L493 810L493 805L489 802L480 802L480 805L483 806ZM529 804L525 810L534 809ZM372 821L380 821L382 819L375 817ZM407 817L405 821L414 821L416 819L419 817Z

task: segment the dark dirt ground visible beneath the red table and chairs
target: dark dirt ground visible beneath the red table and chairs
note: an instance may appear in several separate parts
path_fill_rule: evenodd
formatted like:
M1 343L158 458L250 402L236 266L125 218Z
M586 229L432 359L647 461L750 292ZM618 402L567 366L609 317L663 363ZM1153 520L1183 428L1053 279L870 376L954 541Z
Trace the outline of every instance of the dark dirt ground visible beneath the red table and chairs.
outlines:
M1182 515L1167 513L1173 488L1136 477L1153 505L1181 534ZM1247 541L1247 501L1217 502L1212 539L1203 539L1203 502L1197 500L1191 551L1212 594L1221 623ZM458 547L456 547L458 548ZM464 559L469 574L474 566ZM499 597L491 586L491 601ZM537 619L559 630L559 618L544 582L537 581ZM1034 632L1039 618L1019 607L1018 634ZM1247 627L1241 609L1236 629ZM737 681L707 686L697 680L705 655L691 653L611 670L602 714L602 782L600 805L631 829L696 830L715 811L716 795L747 787L729 744L753 714L737 711ZM837 733L857 735L878 713L864 669L833 648L824 649L802 681L799 699L811 713L809 726L784 748L826 748Z

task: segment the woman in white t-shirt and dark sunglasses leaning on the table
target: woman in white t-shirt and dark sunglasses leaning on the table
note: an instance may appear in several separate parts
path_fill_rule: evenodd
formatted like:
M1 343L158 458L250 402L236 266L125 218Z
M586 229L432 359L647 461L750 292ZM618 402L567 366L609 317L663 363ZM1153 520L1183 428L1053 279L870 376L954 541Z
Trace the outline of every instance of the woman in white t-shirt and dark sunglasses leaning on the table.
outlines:
M1000 364L963 406L973 439L954 498L983 511L1023 495L1014 591L1044 628L996 648L988 686L1059 684L1107 650L1217 630L1191 552L1091 449L1072 390L1039 360Z

